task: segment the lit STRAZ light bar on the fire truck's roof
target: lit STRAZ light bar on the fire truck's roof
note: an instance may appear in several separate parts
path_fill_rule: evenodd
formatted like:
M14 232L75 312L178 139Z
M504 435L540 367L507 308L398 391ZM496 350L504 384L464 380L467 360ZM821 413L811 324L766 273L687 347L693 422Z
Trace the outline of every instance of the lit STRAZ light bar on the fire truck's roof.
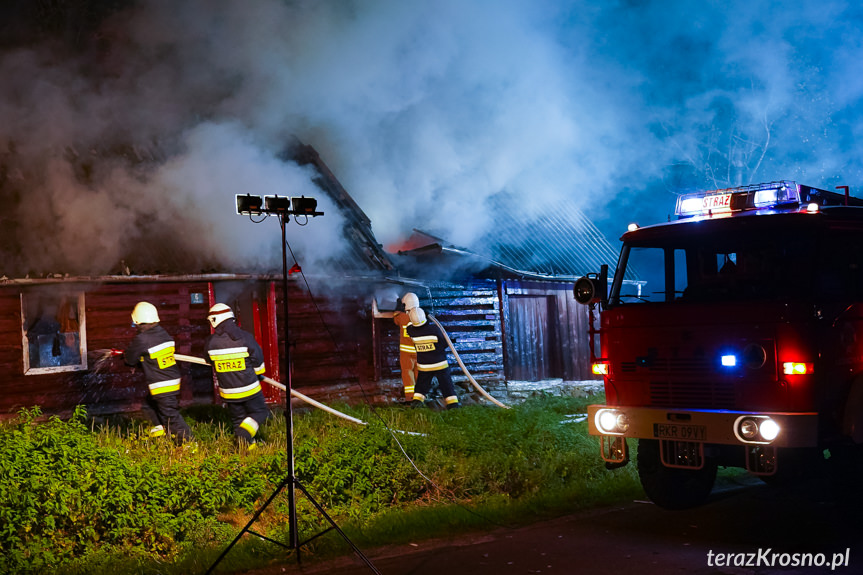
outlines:
M679 217L705 216L799 203L800 190L797 184L782 181L684 194L677 198L674 213Z

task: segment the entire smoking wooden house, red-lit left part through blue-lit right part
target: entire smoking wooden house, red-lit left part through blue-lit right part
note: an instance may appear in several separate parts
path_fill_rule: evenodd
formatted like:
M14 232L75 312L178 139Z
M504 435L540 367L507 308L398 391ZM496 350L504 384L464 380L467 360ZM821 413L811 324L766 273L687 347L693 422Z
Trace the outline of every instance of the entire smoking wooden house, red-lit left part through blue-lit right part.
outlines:
M123 267L102 276L2 276L0 417L32 405L60 415L77 405L93 415L146 409L140 371L119 358L96 361L100 350L123 348L132 339L130 314L138 301L156 305L177 353L193 357L204 355L207 310L228 303L261 343L267 375L321 401L401 397L395 325L372 310L373 302L395 306L408 291L441 321L467 369L495 395L505 398L511 381L593 377L587 312L573 301L572 286L616 254L580 212L556 207L525 227L502 211L496 233L471 249L416 232L398 254L387 253L369 218L313 148L297 142L290 158L315 168L321 193L346 222L349 249L325 276L289 275L287 321L279 273ZM503 237L507 241L498 239ZM318 290L323 284L327 289ZM469 392L454 357L451 363L454 379ZM182 405L218 403L211 369L181 365ZM284 402L273 388L265 393L273 403Z

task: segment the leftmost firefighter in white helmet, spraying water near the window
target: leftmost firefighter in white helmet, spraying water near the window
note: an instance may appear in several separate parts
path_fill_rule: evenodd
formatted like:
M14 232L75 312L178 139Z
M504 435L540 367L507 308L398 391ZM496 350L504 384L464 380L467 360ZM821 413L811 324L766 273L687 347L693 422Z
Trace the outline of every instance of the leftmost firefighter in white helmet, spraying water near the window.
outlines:
M132 322L138 334L123 352L127 365L140 365L150 388L159 425L150 429L150 437L173 435L177 441L194 439L192 430L180 415L180 366L174 359L174 338L159 325L159 312L149 302L138 302L132 310Z

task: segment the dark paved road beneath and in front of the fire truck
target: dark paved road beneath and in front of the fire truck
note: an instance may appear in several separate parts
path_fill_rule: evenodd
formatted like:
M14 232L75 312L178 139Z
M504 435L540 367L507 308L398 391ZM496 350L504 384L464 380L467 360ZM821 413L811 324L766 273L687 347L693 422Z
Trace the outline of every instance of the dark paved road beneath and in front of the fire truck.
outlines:
M519 529L364 553L383 575L856 575L863 573L861 517L859 501L852 504L829 489L778 489L753 480L715 492L707 505L689 511L633 501ZM823 566L793 565L795 558L818 562L819 554ZM352 556L326 564L291 562L255 575L279 573L374 571Z

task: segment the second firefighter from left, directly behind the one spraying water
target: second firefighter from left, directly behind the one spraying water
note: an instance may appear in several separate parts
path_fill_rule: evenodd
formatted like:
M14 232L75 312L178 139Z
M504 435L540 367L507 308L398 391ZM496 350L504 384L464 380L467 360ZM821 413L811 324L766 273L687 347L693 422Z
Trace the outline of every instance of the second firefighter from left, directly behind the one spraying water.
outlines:
M207 315L213 333L204 351L216 370L219 395L225 401L234 434L249 451L260 440L258 430L270 415L261 389L264 353L255 337L240 329L234 312L223 303L210 308Z

